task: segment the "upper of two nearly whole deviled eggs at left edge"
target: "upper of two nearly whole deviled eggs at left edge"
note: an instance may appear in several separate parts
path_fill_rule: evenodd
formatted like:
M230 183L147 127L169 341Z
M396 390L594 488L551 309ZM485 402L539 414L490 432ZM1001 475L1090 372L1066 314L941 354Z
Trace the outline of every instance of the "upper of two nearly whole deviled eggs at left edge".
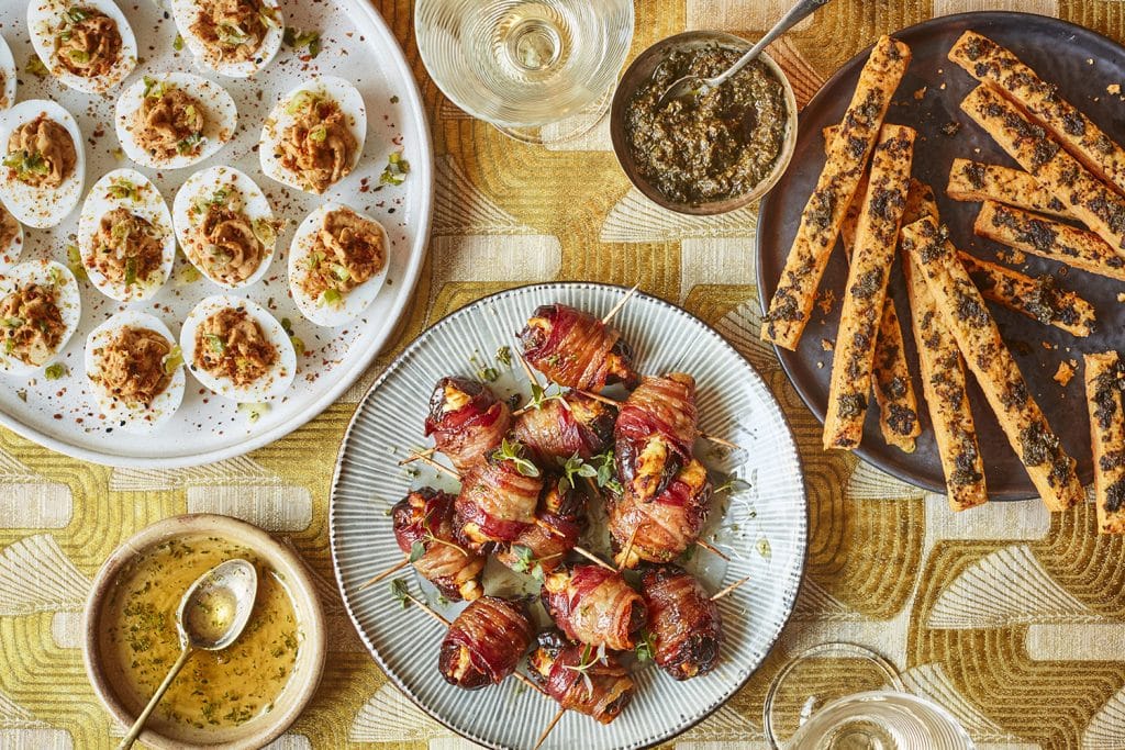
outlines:
M53 101L21 101L0 118L0 199L20 224L56 226L82 197L86 151L71 114Z

